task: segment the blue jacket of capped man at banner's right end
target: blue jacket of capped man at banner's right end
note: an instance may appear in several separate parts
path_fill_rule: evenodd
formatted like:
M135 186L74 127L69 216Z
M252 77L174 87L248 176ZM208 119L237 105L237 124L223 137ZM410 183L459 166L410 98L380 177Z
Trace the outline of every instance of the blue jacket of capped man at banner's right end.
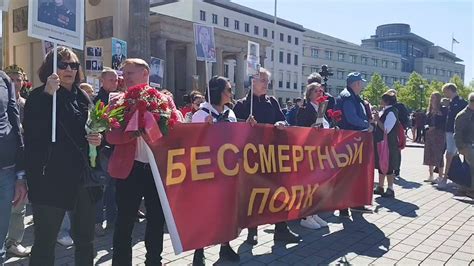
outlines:
M337 105L342 110L341 129L366 130L369 128L369 118L365 111L364 102L347 87L339 94Z

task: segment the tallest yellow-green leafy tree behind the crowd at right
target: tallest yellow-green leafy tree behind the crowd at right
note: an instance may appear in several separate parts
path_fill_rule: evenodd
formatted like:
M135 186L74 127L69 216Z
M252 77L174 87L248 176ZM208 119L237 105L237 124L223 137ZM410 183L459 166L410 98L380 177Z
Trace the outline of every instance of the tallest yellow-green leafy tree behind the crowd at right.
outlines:
M413 72L405 86L398 91L398 101L412 110L423 109L428 105L426 91L428 82L420 74Z

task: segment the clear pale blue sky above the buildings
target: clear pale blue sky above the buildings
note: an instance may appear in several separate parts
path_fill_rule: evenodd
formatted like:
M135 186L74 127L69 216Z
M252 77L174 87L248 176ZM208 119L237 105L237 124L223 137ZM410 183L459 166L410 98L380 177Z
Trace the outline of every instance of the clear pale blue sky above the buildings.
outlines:
M274 0L232 0L274 14ZM355 44L378 25L406 23L411 32L463 59L465 83L474 78L474 0L277 0L277 16Z

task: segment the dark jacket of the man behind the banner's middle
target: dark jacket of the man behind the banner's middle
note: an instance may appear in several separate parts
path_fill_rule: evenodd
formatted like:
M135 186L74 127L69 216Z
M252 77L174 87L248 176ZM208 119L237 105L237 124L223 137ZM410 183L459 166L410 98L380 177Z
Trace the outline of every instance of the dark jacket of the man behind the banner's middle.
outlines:
M237 119L246 120L250 115L250 96L240 99L234 106ZM275 97L253 95L253 116L259 124L275 124L278 121L286 121L285 115L280 109L280 104Z

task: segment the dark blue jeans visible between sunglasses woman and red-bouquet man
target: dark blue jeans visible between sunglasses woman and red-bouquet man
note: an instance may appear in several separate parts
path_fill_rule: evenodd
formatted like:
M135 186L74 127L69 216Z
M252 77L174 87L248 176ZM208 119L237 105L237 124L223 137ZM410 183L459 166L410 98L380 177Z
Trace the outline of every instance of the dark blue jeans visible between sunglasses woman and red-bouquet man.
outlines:
M115 225L115 218L117 217L117 203L115 202L115 179L110 178L105 186L104 196L97 202L96 206L96 224L104 222L104 208L105 219L107 227Z

